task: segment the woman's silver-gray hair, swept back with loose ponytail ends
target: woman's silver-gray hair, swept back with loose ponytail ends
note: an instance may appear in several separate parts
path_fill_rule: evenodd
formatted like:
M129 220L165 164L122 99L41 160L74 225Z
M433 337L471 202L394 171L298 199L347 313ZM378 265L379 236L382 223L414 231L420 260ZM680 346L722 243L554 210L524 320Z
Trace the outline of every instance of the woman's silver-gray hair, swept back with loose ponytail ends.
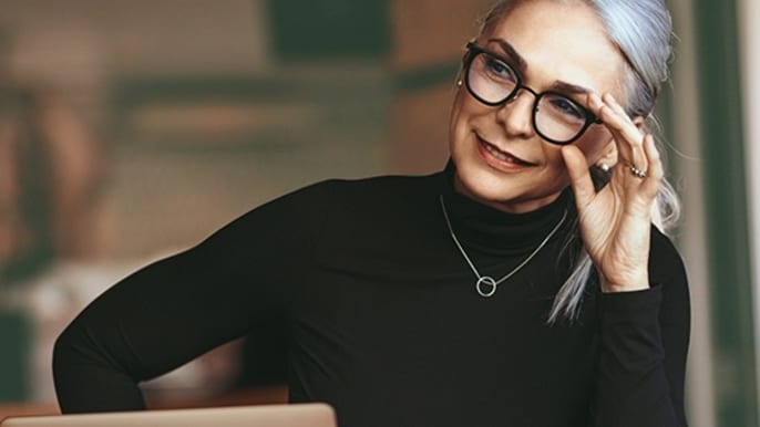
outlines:
M481 31L486 31L524 0L499 0L486 14ZM609 40L626 60L623 75L624 107L630 116L646 118L645 132L658 134L654 115L660 86L668 80L668 61L671 55L672 21L661 0L557 0L582 1L590 7L602 21ZM663 153L661 146L660 153ZM664 159L664 163L665 159ZM594 174L598 176L598 174ZM598 183L604 185L606 183ZM675 189L663 179L653 207L653 222L667 231L676 223L680 202ZM577 235L577 233L574 233ZM583 304L586 283L594 268L588 253L575 254L574 268L556 296L548 323L561 317L577 319Z

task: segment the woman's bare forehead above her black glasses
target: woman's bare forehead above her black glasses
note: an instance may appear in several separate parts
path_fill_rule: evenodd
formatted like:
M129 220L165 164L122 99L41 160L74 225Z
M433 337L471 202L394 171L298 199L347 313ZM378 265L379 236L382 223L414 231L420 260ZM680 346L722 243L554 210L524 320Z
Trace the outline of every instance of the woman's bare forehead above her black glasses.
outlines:
M624 58L596 15L583 1L520 1L479 38L501 52L507 42L526 63L533 85L562 81L619 96Z

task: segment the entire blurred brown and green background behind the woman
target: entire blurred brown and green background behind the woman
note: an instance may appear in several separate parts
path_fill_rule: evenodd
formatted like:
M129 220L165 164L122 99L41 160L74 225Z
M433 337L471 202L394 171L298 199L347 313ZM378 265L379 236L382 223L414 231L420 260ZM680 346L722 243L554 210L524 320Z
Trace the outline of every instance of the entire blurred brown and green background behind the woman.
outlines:
M0 0L0 418L57 412L55 336L137 267L318 179L442 168L490 4ZM668 4L658 110L685 205L689 417L758 426L760 4ZM285 398L281 372L245 354L232 343L146 384L152 406Z

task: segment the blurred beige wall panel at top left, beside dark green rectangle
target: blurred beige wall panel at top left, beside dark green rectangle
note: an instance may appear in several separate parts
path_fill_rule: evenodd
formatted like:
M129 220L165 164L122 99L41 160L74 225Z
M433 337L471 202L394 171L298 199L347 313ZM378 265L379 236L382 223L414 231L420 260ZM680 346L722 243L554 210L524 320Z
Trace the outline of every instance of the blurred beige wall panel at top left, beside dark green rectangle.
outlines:
M250 73L269 63L264 0L2 0L23 77Z

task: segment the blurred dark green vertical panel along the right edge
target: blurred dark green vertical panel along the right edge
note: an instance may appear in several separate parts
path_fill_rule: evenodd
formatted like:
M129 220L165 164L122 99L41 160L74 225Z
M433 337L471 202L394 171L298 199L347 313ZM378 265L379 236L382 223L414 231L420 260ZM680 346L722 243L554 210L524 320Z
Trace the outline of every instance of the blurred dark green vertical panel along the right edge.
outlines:
M717 426L757 426L741 87L733 0L694 0Z

